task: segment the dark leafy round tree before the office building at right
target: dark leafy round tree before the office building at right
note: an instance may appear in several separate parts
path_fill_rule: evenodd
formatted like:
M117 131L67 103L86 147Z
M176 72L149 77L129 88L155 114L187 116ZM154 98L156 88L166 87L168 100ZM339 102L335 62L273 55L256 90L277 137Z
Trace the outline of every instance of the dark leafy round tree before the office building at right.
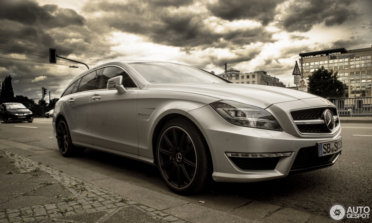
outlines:
M344 84L337 80L337 72L328 71L323 66L309 75L308 90L323 98L342 98L345 93Z

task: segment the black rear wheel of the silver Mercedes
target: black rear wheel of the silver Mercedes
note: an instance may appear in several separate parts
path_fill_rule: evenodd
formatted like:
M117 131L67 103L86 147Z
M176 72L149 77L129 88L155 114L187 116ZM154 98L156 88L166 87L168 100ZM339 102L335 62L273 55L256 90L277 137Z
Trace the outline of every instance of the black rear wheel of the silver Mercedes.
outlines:
M84 149L72 144L70 130L64 118L61 118L57 125L57 144L64 157L79 156L84 152Z

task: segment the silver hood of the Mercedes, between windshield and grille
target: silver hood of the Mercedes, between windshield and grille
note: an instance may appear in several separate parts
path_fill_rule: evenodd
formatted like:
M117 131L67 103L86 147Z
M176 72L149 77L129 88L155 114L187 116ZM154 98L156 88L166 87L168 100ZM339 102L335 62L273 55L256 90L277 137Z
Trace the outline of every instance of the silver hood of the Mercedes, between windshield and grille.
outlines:
M237 101L260 108L267 108L275 103L296 101L305 98L318 98L309 93L284 87L234 83L148 84L147 89L195 93L221 100Z

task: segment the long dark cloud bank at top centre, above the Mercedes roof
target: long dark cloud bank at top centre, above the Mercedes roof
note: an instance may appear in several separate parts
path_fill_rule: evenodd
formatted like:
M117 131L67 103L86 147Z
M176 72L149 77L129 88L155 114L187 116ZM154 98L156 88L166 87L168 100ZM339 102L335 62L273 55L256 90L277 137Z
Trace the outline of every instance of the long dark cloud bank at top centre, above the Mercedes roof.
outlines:
M105 21L108 26L122 32L142 35L151 42L184 50L194 47L237 49L255 42L274 42L272 34L262 26L226 28L217 32L205 22L212 15L205 10L193 9L189 5L191 3L174 1L171 5L160 7L159 1L149 0L90 1L84 9L87 13L99 12L97 20Z

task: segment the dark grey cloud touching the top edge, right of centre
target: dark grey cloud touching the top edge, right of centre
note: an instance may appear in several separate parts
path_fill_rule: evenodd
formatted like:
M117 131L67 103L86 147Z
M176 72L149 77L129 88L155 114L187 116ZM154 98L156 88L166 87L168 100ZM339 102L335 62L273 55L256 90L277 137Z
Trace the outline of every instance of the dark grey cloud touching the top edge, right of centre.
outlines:
M284 0L218 0L208 4L209 11L216 17L229 21L253 19L267 25L274 19L275 8Z

